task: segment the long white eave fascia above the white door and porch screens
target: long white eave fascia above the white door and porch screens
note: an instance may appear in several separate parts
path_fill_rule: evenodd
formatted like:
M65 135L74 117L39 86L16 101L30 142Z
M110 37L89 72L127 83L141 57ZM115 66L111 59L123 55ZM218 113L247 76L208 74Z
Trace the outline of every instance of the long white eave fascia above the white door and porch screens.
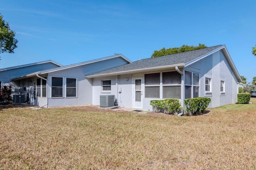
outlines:
M114 76L114 75L120 75L120 74L132 74L137 72L145 72L145 71L154 71L154 70L164 70L166 68L174 68L178 67L184 67L184 63L182 64L174 64L174 65L168 65L168 66L158 66L158 67L151 67L151 68L143 68L143 69L137 69L137 70L129 70L129 71L120 71L120 72L113 72L113 73L106 73L106 74L97 74L97 75L88 75L85 76L86 78L95 78L95 77L103 77L103 76Z

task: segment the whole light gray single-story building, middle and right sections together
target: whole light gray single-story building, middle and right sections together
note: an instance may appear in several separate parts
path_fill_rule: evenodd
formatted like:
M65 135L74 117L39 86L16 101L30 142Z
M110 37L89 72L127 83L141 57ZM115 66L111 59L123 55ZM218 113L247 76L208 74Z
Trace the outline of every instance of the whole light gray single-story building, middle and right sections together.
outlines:
M208 107L236 103L241 79L226 46L218 45L135 62L114 55L13 74L11 81L20 88L22 82L32 82L26 93L31 98L36 92L34 102L29 100L34 105L102 105L111 96L120 107L152 110L150 100L167 98L179 99L182 106L195 97L211 98Z

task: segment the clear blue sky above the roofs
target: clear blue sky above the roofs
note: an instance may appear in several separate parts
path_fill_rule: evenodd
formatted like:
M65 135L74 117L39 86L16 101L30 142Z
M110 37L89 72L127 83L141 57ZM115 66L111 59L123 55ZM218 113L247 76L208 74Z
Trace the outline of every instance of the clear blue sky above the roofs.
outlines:
M2 0L16 32L0 68L53 60L67 65L121 53L132 61L154 50L226 45L240 75L256 76L255 0Z

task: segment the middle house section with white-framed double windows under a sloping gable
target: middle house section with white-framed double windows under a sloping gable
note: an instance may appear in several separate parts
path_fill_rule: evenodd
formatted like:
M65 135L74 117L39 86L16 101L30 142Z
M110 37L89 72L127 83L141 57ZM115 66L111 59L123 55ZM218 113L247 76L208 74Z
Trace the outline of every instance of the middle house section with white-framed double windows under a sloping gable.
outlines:
M132 63L123 55L114 55L58 68L12 77L14 82L36 82L36 99L40 107L92 104L92 79L87 74ZM31 94L31 92L30 92Z

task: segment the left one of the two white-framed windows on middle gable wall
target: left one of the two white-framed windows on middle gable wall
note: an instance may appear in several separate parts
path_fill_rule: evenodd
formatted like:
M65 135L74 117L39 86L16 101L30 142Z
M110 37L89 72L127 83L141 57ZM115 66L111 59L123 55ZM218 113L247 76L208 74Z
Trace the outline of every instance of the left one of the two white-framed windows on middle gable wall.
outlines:
M52 97L63 97L63 78L52 77Z

